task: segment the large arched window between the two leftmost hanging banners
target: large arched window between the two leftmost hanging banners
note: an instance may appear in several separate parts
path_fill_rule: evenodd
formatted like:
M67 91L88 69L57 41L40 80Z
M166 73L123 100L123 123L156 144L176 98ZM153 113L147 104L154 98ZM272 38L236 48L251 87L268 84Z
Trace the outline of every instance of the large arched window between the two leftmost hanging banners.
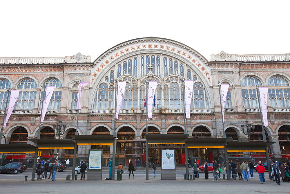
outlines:
M20 90L16 110L32 110L36 98L36 82L33 79L24 79L19 82L17 89Z

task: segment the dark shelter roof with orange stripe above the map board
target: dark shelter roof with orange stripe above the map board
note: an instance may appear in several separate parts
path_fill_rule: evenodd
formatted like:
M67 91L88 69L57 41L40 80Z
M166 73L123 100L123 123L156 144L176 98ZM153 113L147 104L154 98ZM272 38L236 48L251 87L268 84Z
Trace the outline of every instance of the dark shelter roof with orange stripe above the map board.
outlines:
M113 145L113 135L70 135L77 145Z

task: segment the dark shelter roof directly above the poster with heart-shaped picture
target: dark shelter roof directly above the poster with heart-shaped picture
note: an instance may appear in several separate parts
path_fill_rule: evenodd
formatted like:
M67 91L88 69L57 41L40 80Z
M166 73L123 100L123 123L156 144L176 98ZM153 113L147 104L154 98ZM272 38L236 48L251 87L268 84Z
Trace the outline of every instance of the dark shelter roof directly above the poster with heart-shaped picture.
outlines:
M185 134L146 134L148 144L184 144L189 135Z

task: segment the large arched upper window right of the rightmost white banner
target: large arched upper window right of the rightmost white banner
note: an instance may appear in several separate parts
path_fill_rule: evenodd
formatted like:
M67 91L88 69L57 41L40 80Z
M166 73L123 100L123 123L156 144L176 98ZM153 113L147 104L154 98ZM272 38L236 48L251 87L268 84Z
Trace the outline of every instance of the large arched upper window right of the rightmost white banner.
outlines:
M270 104L273 108L290 107L290 87L282 76L272 76L268 81Z

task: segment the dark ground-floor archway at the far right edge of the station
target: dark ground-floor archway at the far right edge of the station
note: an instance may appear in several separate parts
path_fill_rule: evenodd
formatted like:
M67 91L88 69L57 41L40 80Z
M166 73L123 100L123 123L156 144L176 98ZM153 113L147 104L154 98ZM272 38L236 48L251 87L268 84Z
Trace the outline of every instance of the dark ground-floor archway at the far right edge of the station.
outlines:
M278 130L279 144L282 154L290 154L290 126L283 125Z

